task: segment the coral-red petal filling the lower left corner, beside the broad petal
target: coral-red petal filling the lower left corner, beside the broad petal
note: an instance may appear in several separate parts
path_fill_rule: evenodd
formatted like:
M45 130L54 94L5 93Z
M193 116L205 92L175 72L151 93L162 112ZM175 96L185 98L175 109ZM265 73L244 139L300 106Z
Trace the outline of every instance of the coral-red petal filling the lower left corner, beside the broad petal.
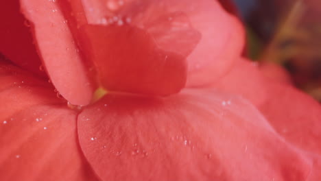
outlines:
M0 62L0 180L97 180L76 132L77 114L47 82Z

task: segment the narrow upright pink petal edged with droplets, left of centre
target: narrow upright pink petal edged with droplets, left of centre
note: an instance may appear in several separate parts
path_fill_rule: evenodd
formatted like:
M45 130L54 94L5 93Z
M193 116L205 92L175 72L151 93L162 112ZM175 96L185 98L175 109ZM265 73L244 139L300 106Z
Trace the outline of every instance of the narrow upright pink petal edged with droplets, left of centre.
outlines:
M88 104L93 84L58 2L21 0L21 8L34 24L36 45L51 82L71 104Z

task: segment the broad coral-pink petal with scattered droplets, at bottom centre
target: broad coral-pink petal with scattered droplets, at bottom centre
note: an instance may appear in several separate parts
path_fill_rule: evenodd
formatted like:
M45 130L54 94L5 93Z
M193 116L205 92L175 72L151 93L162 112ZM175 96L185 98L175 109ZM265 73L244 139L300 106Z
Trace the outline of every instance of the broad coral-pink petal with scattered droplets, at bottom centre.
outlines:
M243 99L213 90L106 95L78 117L102 180L305 180L310 163Z

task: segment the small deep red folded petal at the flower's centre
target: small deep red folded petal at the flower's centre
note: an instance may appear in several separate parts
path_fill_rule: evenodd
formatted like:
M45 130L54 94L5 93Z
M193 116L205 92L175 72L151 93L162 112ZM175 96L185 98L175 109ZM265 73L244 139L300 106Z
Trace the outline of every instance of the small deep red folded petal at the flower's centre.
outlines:
M99 80L108 90L169 95L185 86L184 56L159 49L143 29L88 25L82 42L95 61Z

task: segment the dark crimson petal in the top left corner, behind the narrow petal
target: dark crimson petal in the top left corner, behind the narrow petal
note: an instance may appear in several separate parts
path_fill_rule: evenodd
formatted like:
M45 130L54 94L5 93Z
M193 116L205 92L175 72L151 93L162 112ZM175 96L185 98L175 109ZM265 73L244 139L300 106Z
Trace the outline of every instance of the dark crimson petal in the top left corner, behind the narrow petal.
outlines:
M19 1L0 1L0 53L23 69L45 77L39 69L41 61L28 26L20 12Z

